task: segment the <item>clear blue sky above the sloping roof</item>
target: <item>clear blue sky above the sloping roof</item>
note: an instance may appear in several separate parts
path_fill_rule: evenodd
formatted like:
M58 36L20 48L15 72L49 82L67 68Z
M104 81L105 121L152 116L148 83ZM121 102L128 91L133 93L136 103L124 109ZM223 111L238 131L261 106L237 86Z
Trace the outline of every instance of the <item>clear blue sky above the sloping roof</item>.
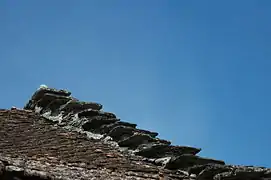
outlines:
M271 1L2 0L1 108L46 84L227 163L271 167Z

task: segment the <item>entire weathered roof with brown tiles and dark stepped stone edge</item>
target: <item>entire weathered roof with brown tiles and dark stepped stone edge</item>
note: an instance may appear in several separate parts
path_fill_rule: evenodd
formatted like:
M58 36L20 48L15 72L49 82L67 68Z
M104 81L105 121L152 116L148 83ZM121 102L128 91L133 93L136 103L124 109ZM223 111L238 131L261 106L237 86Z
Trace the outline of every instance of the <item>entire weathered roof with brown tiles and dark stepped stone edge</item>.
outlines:
M41 86L24 109L0 110L0 179L271 180L271 169L200 157L136 127Z

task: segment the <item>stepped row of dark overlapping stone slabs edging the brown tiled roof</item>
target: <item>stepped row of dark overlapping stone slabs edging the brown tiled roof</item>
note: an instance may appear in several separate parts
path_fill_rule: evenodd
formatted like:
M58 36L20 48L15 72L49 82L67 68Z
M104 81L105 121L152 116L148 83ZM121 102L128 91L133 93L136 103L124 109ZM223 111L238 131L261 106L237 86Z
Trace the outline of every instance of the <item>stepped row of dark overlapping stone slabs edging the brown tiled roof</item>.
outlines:
M271 180L270 169L226 165L221 160L200 157L200 148L171 145L158 138L157 132L139 129L102 108L99 103L79 101L69 91L45 87L38 89L24 107L54 126L84 134L89 141L107 144L132 159L140 157L142 162L170 171L167 179Z

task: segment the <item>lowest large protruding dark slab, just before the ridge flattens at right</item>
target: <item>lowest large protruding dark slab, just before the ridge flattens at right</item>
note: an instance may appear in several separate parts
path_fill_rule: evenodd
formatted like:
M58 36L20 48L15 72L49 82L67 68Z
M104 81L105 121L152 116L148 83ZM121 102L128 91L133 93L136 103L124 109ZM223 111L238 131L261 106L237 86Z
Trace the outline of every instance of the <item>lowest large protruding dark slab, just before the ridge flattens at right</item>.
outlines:
M172 157L170 162L166 165L168 169L186 169L194 165L203 164L222 164L224 161L214 160L209 158L203 158L192 154L184 154L178 157Z

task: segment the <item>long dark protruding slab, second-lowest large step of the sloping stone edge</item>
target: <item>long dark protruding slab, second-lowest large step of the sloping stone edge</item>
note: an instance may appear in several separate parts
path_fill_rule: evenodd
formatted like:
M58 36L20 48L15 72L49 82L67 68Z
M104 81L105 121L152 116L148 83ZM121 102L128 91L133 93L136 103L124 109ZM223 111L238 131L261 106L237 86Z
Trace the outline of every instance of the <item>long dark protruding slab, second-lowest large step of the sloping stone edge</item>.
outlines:
M148 158L174 157L183 154L196 155L201 149L189 146L168 146L166 144L142 145L138 148L137 155Z

